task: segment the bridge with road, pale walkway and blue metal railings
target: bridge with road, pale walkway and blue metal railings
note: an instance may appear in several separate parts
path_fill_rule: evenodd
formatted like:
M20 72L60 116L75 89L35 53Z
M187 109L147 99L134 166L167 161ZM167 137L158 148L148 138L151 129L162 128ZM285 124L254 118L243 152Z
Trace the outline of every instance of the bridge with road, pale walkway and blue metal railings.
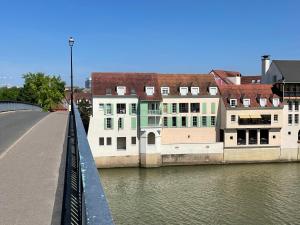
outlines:
M113 224L76 107L0 102L0 224Z

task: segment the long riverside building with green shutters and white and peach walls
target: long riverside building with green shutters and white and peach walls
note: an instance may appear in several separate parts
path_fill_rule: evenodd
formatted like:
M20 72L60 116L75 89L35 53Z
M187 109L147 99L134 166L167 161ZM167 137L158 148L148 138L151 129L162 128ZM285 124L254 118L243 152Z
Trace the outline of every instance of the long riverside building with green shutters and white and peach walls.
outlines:
M93 73L88 140L98 167L220 163L211 75Z

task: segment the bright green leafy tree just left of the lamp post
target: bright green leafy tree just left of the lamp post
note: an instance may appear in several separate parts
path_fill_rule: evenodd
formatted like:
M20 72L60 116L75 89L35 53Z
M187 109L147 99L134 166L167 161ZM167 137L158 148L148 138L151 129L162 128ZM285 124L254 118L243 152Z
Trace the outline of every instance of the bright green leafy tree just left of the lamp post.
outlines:
M44 73L27 73L24 88L20 93L24 101L40 105L44 111L57 106L64 98L65 83L59 76L48 76Z

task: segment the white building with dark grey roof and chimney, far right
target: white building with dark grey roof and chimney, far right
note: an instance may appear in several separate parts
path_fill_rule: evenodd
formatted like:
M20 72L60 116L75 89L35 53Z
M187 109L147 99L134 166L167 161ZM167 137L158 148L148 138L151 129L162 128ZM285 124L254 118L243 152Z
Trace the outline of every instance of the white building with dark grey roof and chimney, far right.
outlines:
M299 159L300 124L300 60L273 60L262 57L262 82L273 84L273 90L283 102L281 130L282 154L288 160Z

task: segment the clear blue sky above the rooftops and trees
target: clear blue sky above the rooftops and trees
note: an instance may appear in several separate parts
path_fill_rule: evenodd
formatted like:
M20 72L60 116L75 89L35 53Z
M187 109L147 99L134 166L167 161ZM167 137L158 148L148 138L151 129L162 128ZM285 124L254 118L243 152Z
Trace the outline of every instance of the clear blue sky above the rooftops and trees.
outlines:
M93 71L260 73L260 56L300 59L298 0L1 0L0 85L22 74L75 84Z

